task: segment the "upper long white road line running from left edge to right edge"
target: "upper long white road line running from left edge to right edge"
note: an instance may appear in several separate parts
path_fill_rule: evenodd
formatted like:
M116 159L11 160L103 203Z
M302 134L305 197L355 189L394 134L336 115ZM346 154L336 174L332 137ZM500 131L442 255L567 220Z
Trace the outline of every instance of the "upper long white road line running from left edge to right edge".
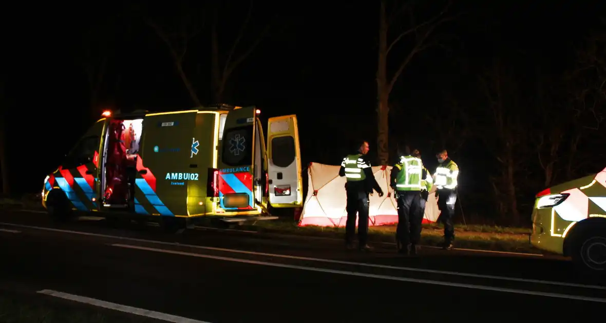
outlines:
M284 259L317 261L320 263L329 263L329 264L344 264L344 265L370 267L370 268L404 270L404 271L408 271L408 272L437 273L437 274L441 274L441 275L485 278L485 279L496 279L496 280L502 280L502 281L528 282L528 283L532 283L532 284L559 285L559 286L567 286L567 287L580 287L580 288L587 288L587 289L606 290L606 287L604 287L604 286L574 284L571 282L544 281L544 280L539 280L539 279L525 279L525 278L514 278L514 277L505 277L505 276L481 275L481 274L475 274L475 273L450 272L450 271L446 271L446 270L423 269L423 268L416 268L416 267L398 267L398 266L389 266L389 265L381 265L381 264L356 263L353 261L341 261L341 260L333 260L333 259L303 257L303 256L280 255L277 253L255 252L255 251L238 250L238 249L225 249L225 248L219 248L219 247L205 247L205 246L196 246L195 244L180 244L180 243L169 243L169 242L164 242L164 241L147 240L147 239L118 237L115 235L104 235L101 233L90 233L90 232L81 232L81 231L72 231L72 230L63 230L63 229L53 229L50 227L25 226L23 224L0 223L0 225L24 227L27 229L46 230L46 231L52 231L52 232L72 233L72 234L76 234L76 235L85 235L88 237L112 238L112 239L135 241L135 242L142 242L142 243L162 244L165 246L189 247L189 248L202 249L202 250L213 250L213 251L231 252L231 253L244 253L247 255L256 255L256 256L270 256L270 257L284 258Z

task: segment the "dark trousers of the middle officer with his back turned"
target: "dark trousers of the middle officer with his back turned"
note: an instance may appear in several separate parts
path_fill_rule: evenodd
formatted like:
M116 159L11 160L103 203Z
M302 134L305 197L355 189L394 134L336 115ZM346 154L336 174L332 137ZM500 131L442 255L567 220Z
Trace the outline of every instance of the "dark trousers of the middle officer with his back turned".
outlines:
M406 248L410 243L417 244L421 239L423 214L421 213L419 218L420 200L419 191L398 192L398 227L396 228L398 249Z

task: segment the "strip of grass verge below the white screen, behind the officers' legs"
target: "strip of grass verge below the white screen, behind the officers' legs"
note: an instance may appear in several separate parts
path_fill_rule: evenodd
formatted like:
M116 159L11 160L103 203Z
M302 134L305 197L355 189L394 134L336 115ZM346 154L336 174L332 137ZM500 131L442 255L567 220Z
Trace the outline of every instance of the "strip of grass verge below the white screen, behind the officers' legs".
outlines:
M259 221L254 226L242 226L242 229L252 229L268 233L288 233L316 237L344 238L344 227L299 227L292 221ZM530 229L491 226L456 226L456 248L481 249L507 252L540 253L530 246L528 234ZM396 226L371 226L368 238L375 242L395 243ZM436 246L442 241L444 227L441 224L423 226L421 244Z

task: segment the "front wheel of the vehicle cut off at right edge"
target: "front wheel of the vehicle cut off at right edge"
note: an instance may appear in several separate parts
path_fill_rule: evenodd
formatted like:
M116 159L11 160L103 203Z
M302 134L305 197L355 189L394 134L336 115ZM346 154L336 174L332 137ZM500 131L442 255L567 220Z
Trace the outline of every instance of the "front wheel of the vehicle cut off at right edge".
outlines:
M606 224L594 223L576 233L571 241L574 265L582 275L606 277Z

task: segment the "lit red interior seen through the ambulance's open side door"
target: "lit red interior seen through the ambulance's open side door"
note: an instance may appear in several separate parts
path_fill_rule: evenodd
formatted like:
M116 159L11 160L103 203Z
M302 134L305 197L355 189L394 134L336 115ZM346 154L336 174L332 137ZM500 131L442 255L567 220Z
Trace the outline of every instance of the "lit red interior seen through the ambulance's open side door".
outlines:
M143 119L112 119L107 125L101 179L105 207L128 207L134 203L142 129Z

